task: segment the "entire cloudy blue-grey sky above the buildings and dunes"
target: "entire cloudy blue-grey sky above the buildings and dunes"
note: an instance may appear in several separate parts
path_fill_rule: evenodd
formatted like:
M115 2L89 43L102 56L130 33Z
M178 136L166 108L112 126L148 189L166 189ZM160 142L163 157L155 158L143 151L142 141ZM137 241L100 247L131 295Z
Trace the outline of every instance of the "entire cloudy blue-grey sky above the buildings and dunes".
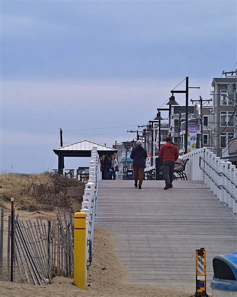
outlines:
M132 139L126 131L151 120L186 76L200 87L189 99L209 99L213 77L237 60L232 0L0 6L1 172L57 168L59 128L64 145ZM175 95L180 105L184 96ZM65 159L68 169L87 165Z

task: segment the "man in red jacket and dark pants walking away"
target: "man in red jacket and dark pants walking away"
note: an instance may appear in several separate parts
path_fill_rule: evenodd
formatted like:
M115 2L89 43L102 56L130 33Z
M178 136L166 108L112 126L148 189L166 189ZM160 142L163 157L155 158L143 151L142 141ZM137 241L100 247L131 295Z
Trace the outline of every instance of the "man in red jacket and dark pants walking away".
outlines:
M172 138L168 136L159 150L159 159L163 163L164 168L164 190L172 188L174 163L178 159L177 146L172 143Z

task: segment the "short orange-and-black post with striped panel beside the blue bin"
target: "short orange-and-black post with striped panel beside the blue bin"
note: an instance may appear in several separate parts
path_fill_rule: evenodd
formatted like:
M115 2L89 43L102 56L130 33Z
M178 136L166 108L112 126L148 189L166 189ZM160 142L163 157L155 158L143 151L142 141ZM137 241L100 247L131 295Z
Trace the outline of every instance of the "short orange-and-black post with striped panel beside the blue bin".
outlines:
M196 249L196 292L195 297L208 296L206 293L206 254L202 247Z

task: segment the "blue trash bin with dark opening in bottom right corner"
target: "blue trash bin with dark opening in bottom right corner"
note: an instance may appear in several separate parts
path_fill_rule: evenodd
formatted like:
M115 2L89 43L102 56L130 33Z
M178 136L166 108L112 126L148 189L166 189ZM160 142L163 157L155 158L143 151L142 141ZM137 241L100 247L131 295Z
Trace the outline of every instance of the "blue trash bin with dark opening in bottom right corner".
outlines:
M213 258L212 297L237 297L237 252Z

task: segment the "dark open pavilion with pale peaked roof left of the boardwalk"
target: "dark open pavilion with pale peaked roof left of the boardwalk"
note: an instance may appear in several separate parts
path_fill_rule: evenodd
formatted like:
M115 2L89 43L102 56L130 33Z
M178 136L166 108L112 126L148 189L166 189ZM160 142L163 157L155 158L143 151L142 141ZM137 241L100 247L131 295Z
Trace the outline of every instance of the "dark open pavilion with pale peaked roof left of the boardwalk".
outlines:
M98 144L89 140L81 140L75 143L57 147L53 152L58 156L58 172L62 172L64 168L64 157L90 157L92 147L97 147L99 156L111 156L117 153L115 148Z

